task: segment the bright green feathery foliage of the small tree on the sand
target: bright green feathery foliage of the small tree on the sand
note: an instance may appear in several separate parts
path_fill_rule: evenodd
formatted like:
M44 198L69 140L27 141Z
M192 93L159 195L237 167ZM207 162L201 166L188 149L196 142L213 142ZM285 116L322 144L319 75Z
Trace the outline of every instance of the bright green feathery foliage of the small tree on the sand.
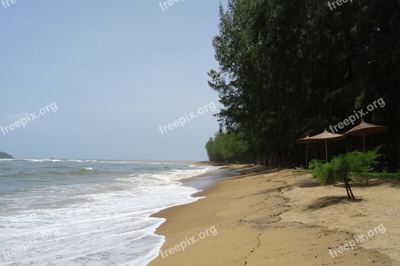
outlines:
M351 182L354 175L361 175L371 170L371 166L376 163L375 159L380 156L379 149L380 147L377 147L365 154L359 151L348 152L334 157L330 163L326 164L312 160L309 163L309 169L313 177L319 179L323 186L343 180Z

